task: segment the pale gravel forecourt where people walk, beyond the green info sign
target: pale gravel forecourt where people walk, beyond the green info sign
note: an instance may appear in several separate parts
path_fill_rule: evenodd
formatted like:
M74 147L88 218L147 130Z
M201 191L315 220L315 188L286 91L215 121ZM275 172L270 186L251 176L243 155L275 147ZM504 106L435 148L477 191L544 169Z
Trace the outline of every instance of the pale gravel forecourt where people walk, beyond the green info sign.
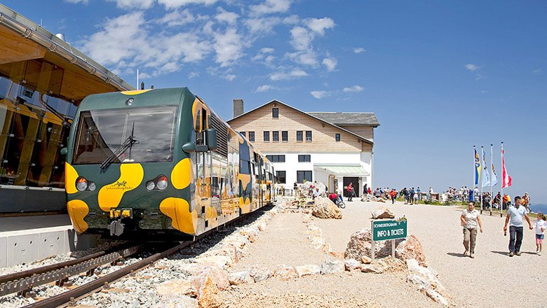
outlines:
M547 307L547 293L543 292L547 287L547 257L535 254L534 232L527 229L527 223L522 255L509 258L508 236L503 234L505 218L482 215L484 232L478 234L475 259L471 259L463 256L459 207L401 202L393 206L360 201L346 204L342 220L313 219L333 251L344 251L353 232L370 228L371 209L388 205L396 217L408 218L408 234L421 241L428 265L439 273L454 306Z

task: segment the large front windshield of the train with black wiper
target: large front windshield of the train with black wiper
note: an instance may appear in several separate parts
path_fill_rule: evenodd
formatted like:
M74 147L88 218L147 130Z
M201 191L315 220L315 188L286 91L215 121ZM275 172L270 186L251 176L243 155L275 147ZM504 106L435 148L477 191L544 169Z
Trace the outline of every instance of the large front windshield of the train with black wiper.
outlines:
M72 163L172 162L176 114L177 106L82 111Z

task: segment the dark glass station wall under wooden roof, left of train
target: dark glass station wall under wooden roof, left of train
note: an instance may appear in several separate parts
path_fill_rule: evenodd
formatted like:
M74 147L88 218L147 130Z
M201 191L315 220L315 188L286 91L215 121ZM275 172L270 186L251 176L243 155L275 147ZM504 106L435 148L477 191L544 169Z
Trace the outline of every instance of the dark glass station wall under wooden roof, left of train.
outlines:
M32 59L0 64L0 184L64 188L70 125L79 100L62 97L64 69Z

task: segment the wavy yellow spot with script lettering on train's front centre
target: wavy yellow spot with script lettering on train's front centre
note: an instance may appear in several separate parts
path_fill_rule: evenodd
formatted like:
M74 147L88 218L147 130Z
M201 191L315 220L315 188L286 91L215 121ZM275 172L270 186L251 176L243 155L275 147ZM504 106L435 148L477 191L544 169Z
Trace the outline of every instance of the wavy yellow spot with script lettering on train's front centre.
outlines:
M126 191L134 190L140 185L144 178L144 170L140 164L122 164L120 165L120 178L114 183L102 186L97 196L99 207L103 211L110 211L118 207L121 197Z

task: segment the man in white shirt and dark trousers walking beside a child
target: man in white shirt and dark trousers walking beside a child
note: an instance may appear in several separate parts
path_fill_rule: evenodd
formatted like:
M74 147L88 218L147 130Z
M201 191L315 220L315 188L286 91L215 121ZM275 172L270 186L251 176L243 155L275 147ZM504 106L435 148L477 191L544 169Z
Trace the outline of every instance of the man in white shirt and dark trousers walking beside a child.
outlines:
M509 225L509 256L520 255L520 245L522 244L522 234L524 228L522 225L522 217L526 218L530 230L532 230L532 223L528 217L525 207L520 206L520 197L515 197L515 205L507 209L507 216L505 218L504 234L507 232L507 224Z

